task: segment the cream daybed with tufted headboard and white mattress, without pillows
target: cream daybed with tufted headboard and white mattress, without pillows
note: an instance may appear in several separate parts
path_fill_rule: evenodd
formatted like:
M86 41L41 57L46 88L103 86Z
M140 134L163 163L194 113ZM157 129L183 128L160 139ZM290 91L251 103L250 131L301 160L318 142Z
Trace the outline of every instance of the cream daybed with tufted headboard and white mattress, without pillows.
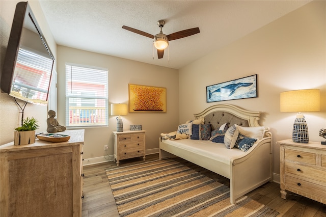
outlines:
M213 105L195 118L211 125L211 130L219 129L227 123L248 129L261 128L258 124L260 112L251 112L230 104ZM196 120L195 119L195 120ZM272 142L268 127L264 127L263 138L244 152L239 148L228 149L224 143L207 140L159 140L159 159L179 156L203 168L230 179L230 200L251 192L260 185L272 181ZM173 156L172 155L172 156Z

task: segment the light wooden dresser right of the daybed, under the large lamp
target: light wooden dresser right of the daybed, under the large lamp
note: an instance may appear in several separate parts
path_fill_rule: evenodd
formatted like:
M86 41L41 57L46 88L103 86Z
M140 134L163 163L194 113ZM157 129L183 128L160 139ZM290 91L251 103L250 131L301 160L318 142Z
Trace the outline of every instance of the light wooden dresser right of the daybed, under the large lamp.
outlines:
M280 144L281 197L286 190L326 204L326 146L320 142Z

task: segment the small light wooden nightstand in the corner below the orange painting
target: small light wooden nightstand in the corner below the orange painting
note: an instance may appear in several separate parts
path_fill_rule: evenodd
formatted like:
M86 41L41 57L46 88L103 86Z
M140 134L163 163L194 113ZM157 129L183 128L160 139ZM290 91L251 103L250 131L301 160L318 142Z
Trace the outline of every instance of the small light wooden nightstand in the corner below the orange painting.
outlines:
M119 166L120 160L141 157L145 160L146 130L113 131L113 153Z

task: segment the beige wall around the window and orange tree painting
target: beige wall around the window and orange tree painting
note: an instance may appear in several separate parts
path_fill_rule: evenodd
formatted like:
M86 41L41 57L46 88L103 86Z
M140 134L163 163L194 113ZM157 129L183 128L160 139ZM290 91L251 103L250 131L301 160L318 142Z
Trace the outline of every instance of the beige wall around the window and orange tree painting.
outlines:
M65 63L96 66L108 69L108 100L111 103L128 104L128 84L167 88L167 113L129 113L121 116L124 129L130 124L141 124L146 132L147 153L157 152L161 132L176 130L179 123L178 70L136 61L101 55L64 46L58 46L58 121L65 123ZM109 126L85 129L84 158L96 158L113 154L113 134L116 117L109 116ZM154 149L154 150L151 150ZM87 163L87 162L86 162Z

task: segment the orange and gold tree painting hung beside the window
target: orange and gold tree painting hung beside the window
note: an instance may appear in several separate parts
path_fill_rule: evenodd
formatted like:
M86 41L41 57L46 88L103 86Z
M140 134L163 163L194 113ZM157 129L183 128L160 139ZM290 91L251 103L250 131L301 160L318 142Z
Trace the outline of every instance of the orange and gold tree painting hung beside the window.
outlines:
M166 112L166 88L129 84L129 113Z

